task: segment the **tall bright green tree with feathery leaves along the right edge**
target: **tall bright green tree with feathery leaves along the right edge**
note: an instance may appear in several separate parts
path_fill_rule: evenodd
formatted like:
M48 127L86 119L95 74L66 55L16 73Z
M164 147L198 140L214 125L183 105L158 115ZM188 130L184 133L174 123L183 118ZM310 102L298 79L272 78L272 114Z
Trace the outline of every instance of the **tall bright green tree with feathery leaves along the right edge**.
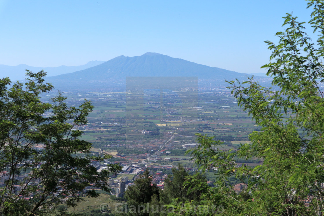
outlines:
M224 214L322 215L324 211L324 2L310 0L309 7L316 44L307 36L304 22L291 14L283 17L283 26L288 27L277 32L279 43L266 41L271 62L262 67L273 77L271 88L253 77L228 82L238 105L262 127L249 135L251 144L242 144L237 153L221 153L214 150L219 143L213 138L198 135L200 145L193 155L203 169L218 167L214 194L225 201ZM235 167L234 156L262 158L263 164ZM233 175L247 185L249 197L237 196L228 185Z

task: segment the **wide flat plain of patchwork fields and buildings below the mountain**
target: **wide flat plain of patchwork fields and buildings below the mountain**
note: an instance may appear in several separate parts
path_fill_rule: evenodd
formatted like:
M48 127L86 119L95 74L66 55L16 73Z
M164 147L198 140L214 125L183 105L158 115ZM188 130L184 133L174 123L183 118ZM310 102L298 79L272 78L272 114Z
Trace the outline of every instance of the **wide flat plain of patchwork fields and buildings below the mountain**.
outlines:
M156 152L169 157L166 152L176 152L184 144L194 143L196 133L230 143L219 146L220 151L227 151L237 148L240 142L249 143L248 135L260 130L237 107L227 89L198 92L169 87L87 94L95 108L82 138L93 142L97 149L113 155L119 153L121 156L116 160L137 163ZM70 94L68 100L77 105L82 97Z

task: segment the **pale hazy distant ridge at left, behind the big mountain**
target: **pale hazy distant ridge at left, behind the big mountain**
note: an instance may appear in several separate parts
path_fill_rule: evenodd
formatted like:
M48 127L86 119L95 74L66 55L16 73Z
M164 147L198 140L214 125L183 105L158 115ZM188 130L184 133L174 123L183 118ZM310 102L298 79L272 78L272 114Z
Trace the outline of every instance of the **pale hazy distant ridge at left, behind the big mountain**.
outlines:
M60 74L67 74L75 71L87 69L89 67L97 66L105 61L91 61L87 64L80 66L59 66L59 67L33 67L27 64L19 64L17 66L8 66L0 64L0 78L9 77L11 80L23 80L25 79L26 69L32 72L39 72L44 70L47 72L47 76L56 76Z

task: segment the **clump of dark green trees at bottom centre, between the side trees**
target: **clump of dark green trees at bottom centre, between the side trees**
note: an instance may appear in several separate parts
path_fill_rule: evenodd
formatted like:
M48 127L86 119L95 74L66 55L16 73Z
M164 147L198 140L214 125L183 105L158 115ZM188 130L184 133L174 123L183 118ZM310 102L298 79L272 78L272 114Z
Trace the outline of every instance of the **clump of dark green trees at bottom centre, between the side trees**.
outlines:
M199 204L202 201L202 195L210 187L206 183L206 177L201 173L195 173L191 176L180 164L178 168L172 168L171 171L172 174L165 179L164 190L161 190L155 183L152 184L149 170L146 169L141 178L136 179L134 185L128 187L125 191L124 198L127 200L127 207L124 206L122 213L117 215L165 215L165 212L169 209L168 205L176 204L175 201L177 203ZM199 186L197 187L194 184L186 186L186 181L189 179L195 179L197 183L199 182ZM136 208L130 208L131 206ZM137 208L139 206L143 208ZM154 207L155 210L150 206ZM179 215L178 213L175 212L174 215ZM211 210L208 213L212 215L213 211Z

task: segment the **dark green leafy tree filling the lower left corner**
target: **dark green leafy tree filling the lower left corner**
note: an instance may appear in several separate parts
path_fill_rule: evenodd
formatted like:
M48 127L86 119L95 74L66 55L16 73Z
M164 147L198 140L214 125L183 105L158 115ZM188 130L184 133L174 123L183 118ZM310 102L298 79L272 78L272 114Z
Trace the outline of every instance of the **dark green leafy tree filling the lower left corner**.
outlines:
M27 70L25 85L0 80L2 215L43 215L61 203L75 206L82 194L97 196L84 190L90 183L109 190L110 173L120 170L113 165L97 172L91 160L102 158L90 156L91 143L79 139L82 131L72 130L87 123L89 101L69 108L59 92L52 103L41 102L41 94L53 89L44 83L45 75Z

